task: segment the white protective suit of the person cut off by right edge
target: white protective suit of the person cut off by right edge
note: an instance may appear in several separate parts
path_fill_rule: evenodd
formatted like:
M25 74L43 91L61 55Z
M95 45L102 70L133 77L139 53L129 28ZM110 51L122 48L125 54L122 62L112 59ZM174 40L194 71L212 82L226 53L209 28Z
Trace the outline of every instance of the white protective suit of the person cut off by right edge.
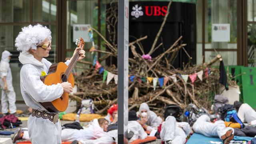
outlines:
M238 118L240 118L242 122L247 122L248 124L256 120L255 110L251 106L249 106L249 104L246 104L246 103L240 106L237 116Z

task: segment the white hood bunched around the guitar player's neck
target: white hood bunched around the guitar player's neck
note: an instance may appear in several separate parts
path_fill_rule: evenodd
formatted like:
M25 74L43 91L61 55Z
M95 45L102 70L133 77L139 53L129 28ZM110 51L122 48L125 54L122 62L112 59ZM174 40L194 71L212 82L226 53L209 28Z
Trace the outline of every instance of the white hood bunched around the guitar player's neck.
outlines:
M42 59L42 61L44 58ZM34 64L36 66L44 66L44 64L40 61L38 61L32 54L29 54L28 52L21 52L19 56L19 61L22 64Z

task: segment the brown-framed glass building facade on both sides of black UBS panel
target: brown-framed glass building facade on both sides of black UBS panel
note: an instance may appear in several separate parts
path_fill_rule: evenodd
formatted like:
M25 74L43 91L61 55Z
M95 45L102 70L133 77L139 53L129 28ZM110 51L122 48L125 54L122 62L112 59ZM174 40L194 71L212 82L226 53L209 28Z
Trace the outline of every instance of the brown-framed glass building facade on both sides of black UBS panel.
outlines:
M196 5L196 64L220 53L226 65L256 66L256 0L173 1ZM52 31L48 60L52 63L64 61L75 48L74 24L90 24L102 35L106 34L104 18L106 4L110 2L112 0L0 0L0 53L9 50L13 54L10 65L17 101L23 99L19 78L21 64L14 43L21 28L37 23L48 26ZM213 42L212 24L230 24L230 41ZM104 42L96 32L94 41L98 48L105 50ZM88 61L93 59L88 53L90 45L89 42L85 46Z

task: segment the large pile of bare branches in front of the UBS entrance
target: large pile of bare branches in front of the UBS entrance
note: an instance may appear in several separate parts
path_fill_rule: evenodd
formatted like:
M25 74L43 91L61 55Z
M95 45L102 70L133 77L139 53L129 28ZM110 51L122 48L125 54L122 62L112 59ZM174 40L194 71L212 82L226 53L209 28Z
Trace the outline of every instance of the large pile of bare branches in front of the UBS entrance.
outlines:
M166 18L169 14L171 2L168 4L167 14L162 22L162 25L156 35L156 38L152 44L152 47L148 54L152 55L156 49L162 47L162 43L156 46L158 38L162 32ZM107 58L117 58L117 44L116 44L116 4L112 4L108 10L106 10L106 25L109 33L110 40L106 40L100 32L92 28L94 32L100 36L108 48L108 51L97 50L101 56L98 58L99 62L106 60ZM200 70L204 70L210 67L214 62L217 62L221 56L218 54L215 58L209 62L202 63L200 65L192 65L190 62L183 66L181 69L174 68L171 64L175 60L180 50L185 50L186 44L179 44L182 40L182 36L172 44L169 48L165 48L164 53L160 54L156 58L152 58L151 61L142 58L141 54L145 54L140 41L146 39L147 36L138 38L134 42L130 42L129 48L132 50L134 58L129 58L129 74L136 77L167 77L172 74L194 74ZM192 58L188 55L188 58ZM106 82L102 83L103 74L99 74L92 66L92 62L80 61L81 64L88 65L88 68L84 69L81 75L76 76L75 82L80 92L70 94L70 98L73 98L80 102L82 99L91 98L94 100L96 106L96 113L106 113L107 108L117 102L117 85L114 80L108 85ZM85 67L85 66L83 66ZM80 68L80 67L77 67ZM105 70L113 74L117 74L117 67L113 64L111 66L104 66ZM210 75L208 78L203 77L203 81L196 79L194 84L188 80L187 83L177 76L177 82L169 80L166 86L160 88L157 86L156 90L153 88L153 84L140 82L138 79L134 79L134 82L129 81L129 110L138 109L142 102L148 103L150 108L158 114L162 114L164 106L168 104L176 104L181 108L186 108L190 103L195 104L199 108L209 109L212 104L213 96L219 93L219 71L218 68L210 68Z

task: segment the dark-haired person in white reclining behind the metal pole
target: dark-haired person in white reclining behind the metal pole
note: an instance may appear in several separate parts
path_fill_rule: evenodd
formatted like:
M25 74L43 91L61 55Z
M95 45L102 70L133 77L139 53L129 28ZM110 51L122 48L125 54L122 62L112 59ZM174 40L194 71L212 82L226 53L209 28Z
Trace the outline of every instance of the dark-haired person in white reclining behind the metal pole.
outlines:
M128 125L125 126L125 131L130 133L130 137L128 138L128 142L133 142L137 139L145 139L147 138L147 134L142 128L142 126L136 121L139 118L136 116L135 111L130 111L128 114ZM131 132L132 131L132 132ZM131 135L132 134L132 135ZM111 130L107 132L106 135L102 136L96 140L81 140L78 144L112 144L116 142L117 144L117 130Z

